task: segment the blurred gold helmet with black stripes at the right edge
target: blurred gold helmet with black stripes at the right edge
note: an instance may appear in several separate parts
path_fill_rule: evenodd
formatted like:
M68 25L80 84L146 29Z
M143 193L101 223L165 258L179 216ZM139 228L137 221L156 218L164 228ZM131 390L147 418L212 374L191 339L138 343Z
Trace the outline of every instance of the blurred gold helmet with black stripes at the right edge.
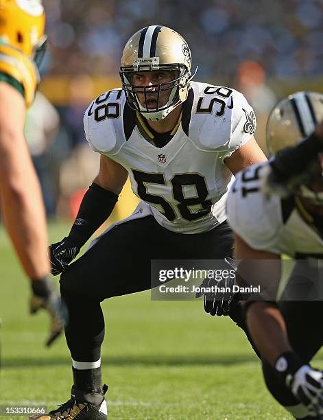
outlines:
M278 102L267 121L267 148L271 155L303 141L323 121L323 95L318 92L296 92ZM300 185L297 195L315 205L323 204L322 156L309 169L309 182ZM313 185L315 184L315 189Z

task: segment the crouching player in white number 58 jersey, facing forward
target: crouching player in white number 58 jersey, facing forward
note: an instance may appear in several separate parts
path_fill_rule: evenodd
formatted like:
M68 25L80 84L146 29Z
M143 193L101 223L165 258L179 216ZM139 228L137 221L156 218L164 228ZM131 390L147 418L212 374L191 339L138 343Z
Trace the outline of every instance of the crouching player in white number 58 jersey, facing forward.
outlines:
M71 232L51 246L69 308L74 385L71 400L50 419L66 419L74 409L82 419L106 419L100 301L157 285L152 259L230 256L228 184L235 172L265 161L246 99L234 89L193 82L191 51L174 30L152 25L136 32L125 45L120 75L122 89L103 93L86 110L86 139L101 154L99 174ZM128 176L141 198L136 211L69 266L110 215ZM229 316L244 327L239 303Z

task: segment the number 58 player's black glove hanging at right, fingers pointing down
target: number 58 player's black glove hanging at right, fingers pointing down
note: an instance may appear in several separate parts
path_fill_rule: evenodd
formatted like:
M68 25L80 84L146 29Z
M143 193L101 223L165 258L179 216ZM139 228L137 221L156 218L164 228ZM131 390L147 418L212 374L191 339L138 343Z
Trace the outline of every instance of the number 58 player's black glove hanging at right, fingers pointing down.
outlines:
M232 258L225 258L224 267L226 270L237 270L235 262ZM227 316L230 312L230 307L233 301L239 301L239 293L233 292L233 286L236 284L235 276L228 275L225 278L217 281L216 279L206 277L200 288L229 288L230 292L197 292L195 297L203 296L204 311L212 316ZM226 290L226 289L224 289Z

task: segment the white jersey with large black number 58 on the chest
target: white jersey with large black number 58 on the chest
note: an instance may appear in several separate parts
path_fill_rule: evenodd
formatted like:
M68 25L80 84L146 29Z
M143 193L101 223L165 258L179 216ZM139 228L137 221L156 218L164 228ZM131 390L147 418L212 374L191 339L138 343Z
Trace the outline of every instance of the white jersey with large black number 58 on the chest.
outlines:
M129 172L132 191L156 221L180 233L199 233L226 220L232 174L224 159L254 134L254 111L233 89L191 82L176 134L163 148L149 143L121 89L86 110L86 139L96 152Z

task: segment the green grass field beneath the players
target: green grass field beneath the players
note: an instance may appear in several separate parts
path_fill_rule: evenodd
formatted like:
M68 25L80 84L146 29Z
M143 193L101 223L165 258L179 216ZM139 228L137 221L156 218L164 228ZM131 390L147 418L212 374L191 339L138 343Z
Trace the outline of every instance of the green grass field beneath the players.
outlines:
M65 233L62 223L50 226L53 241ZM69 352L64 337L45 348L47 316L29 316L27 281L2 229L0 278L0 405L52 409L69 399ZM145 292L103 307L109 419L291 419L267 393L243 333L205 314L202 301L151 301Z

